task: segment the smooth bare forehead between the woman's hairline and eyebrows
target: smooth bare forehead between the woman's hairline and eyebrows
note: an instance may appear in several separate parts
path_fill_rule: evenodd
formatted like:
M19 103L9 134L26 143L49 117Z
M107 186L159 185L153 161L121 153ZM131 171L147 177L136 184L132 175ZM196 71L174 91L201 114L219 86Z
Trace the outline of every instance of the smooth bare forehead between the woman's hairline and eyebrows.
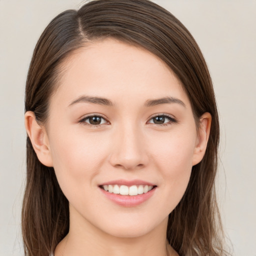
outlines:
M188 100L179 80L159 57L112 38L79 48L65 59L61 70L53 101L70 103L82 94L113 101L128 98L129 102L166 95Z

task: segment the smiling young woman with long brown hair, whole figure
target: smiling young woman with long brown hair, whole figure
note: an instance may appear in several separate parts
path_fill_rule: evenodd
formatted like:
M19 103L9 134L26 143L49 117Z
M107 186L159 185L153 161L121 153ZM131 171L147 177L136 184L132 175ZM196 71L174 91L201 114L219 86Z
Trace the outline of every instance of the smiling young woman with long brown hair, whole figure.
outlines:
M187 29L148 0L45 28L26 82L25 254L224 255L218 114Z

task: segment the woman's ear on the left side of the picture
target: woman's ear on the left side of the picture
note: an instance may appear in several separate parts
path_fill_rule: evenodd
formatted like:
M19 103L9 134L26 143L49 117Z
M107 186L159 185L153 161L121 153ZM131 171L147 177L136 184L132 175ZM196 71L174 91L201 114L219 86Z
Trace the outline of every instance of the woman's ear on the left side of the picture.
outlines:
M45 127L38 124L33 111L25 112L25 128L39 161L51 167L52 158Z

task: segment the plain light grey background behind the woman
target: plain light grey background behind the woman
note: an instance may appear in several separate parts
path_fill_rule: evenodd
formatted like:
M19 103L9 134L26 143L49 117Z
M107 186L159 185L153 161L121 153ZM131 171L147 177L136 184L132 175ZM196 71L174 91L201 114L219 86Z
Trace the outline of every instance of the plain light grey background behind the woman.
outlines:
M155 0L190 30L220 112L218 197L233 255L256 256L256 0ZM80 0L0 0L0 256L22 255L23 98L35 43Z

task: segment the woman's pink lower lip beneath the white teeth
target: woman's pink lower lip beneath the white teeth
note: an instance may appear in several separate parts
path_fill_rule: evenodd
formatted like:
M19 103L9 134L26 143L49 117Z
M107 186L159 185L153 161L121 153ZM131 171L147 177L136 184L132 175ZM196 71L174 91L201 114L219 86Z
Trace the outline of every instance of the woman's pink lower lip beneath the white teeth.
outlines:
M104 189L99 189L102 193L111 201L119 204L121 206L132 207L141 204L142 202L146 201L149 197L151 197L154 193L156 187L153 187L150 191L138 194L138 195L121 195L121 194L114 194L105 191Z

